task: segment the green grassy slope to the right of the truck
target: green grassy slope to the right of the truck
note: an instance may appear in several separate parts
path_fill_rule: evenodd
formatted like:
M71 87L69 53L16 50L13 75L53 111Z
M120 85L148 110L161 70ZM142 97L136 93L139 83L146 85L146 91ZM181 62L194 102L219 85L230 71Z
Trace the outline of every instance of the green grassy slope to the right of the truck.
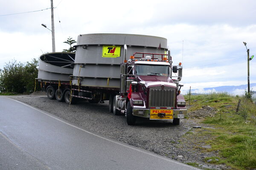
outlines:
M188 104L189 96L185 95ZM241 105L236 113L239 99ZM214 107L215 117L207 117L202 123L215 128L202 128L193 135L210 136L206 144L212 148L206 151L218 151L220 158L209 163L225 163L233 169L245 170L256 168L256 105L241 96L226 93L211 93L191 96L189 111L195 111L204 105ZM219 161L214 161L218 159Z

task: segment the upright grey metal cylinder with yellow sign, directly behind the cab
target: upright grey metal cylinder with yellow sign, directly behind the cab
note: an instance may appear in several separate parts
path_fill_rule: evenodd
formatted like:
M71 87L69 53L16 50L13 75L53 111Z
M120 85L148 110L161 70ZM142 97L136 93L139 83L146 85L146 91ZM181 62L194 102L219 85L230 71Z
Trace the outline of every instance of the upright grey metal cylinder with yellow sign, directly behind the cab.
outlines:
M84 34L77 39L73 85L116 88L120 87L120 63L135 52L161 53L167 51L167 40L162 37L134 34ZM138 54L137 57L142 57Z

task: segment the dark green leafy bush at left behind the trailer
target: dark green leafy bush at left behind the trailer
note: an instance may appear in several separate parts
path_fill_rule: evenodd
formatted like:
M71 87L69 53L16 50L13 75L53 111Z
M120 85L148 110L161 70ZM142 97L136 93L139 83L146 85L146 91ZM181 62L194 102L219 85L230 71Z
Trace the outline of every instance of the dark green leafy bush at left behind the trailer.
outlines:
M38 75L38 60L21 63L16 60L7 63L0 69L0 91L22 94L34 91L35 78Z

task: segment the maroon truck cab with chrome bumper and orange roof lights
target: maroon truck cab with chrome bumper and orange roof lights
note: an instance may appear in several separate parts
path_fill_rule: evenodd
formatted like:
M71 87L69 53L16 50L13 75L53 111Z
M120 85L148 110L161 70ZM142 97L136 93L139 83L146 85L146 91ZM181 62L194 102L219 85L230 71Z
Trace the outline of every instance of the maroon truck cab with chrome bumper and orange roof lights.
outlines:
M120 89L123 93L117 100L127 96L124 113L128 125L134 125L137 117L172 119L173 124L179 125L180 119L186 116L186 102L180 94L183 86L179 83L182 77L181 63L172 66L168 54L158 54L161 58L156 55L137 59L131 56L128 62L121 64L121 72L127 71L121 74Z

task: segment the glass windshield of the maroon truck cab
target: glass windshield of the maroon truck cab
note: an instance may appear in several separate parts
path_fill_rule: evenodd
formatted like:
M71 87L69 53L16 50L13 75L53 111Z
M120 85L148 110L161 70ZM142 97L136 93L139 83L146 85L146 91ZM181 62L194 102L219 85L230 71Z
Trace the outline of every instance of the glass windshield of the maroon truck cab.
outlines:
M148 76L148 75L169 76L169 65L137 64L136 74L140 76Z

